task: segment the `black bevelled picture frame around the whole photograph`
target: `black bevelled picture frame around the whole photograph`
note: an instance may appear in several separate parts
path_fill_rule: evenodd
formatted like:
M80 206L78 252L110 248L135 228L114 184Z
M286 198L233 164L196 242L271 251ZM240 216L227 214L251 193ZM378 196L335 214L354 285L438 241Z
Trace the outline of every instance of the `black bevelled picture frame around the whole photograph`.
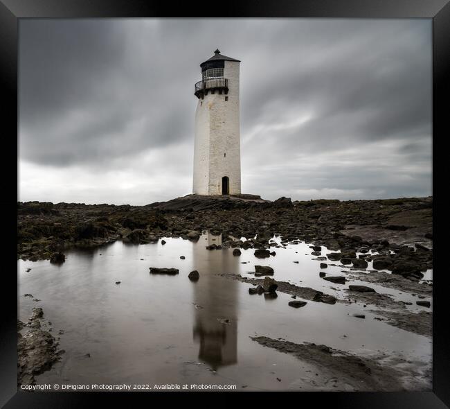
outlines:
M230 1L213 8L186 1L143 0L0 0L0 81L3 99L3 183L0 198L3 211L3 264L1 275L1 344L0 344L0 406L4 408L78 408L96 404L132 407L136 396L147 404L176 396L184 404L196 404L199 398L215 404L220 392L18 392L17 391L17 258L14 234L17 216L17 151L18 101L17 56L18 21L24 18L81 17L326 17L326 18L426 18L433 19L433 392L289 392L301 406L333 408L446 408L450 406L450 336L447 326L447 288L449 272L444 270L444 195L447 184L438 183L436 175L444 175L443 143L449 132L447 101L450 91L450 4L449 0L248 0ZM6 142L12 141L10 148ZM19 152L17 151L17 155ZM15 171L16 170L16 171ZM446 181L447 182L447 181ZM15 196L16 195L16 196ZM8 215L8 216L6 216ZM438 220L438 222L436 222ZM11 266L9 265L11 263ZM447 277L445 277L447 275ZM263 393L265 403L278 403L285 394ZM287 393L287 392L284 392ZM300 393L292 395L293 393ZM238 397L255 399L255 392L222 393L221 403ZM276 399L276 400L275 400ZM167 404L167 403L165 403Z

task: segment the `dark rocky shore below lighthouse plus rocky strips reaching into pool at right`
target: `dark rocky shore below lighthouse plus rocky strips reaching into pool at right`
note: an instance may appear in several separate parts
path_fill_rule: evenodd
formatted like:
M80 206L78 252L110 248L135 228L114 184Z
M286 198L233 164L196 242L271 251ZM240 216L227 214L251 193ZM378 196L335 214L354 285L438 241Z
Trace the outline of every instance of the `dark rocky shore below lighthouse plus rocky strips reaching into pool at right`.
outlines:
M240 249L253 249L263 261L276 256L277 248L305 241L321 261L321 277L332 283L357 280L430 298L432 281L422 279L424 272L433 268L432 219L433 198L345 202L280 198L271 202L256 195L187 195L141 207L19 202L17 258L64 263L64 252L70 248L93 248L117 240L157 243L165 237L197 241L201 232L208 230L222 236L220 245L208 246L211 251L233 247L233 254L239 256ZM274 235L281 241L273 241ZM370 274L368 261L373 262ZM342 276L326 274L333 263L345 268ZM228 272L222 275L261 286L269 273L256 273L254 279ZM406 308L408 303L395 301L388 293L352 291L345 286L343 297L336 299L313 288L283 281L276 285L278 291L307 301L358 302L368 311L372 308L387 324L431 336L432 313L413 313ZM420 302L426 306L422 300L417 305Z

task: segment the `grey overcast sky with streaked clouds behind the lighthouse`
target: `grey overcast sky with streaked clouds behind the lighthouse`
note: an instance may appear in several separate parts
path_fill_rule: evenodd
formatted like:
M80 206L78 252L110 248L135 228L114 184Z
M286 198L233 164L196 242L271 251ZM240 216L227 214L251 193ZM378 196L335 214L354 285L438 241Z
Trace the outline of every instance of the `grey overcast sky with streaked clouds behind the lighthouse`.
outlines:
M431 19L21 19L19 200L192 193L194 84L241 60L242 193L431 195Z

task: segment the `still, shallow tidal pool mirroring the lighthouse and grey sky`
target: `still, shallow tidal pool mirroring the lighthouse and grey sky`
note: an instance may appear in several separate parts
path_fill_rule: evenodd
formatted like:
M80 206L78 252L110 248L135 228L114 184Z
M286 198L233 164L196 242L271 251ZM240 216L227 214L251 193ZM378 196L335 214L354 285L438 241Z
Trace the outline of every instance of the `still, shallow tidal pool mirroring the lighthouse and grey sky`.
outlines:
M59 363L36 376L37 384L350 390L345 384L331 385L320 376L320 367L259 345L250 338L255 335L315 342L359 356L384 354L386 359L401 356L418 365L431 363L431 338L374 320L360 304L309 301L296 309L288 306L290 295L249 295L250 284L219 276L227 272L253 277L255 265L271 266L278 281L338 298L348 284L365 284L321 279L321 261L314 260L309 245L272 247L276 256L269 259L255 258L253 249L241 250L241 256L233 256L231 248L206 250L208 244L220 244L220 237L204 233L196 243L165 238L165 245L117 241L95 250L66 252L60 266L19 260L19 319L26 322L34 306L42 307L65 350ZM322 255L327 252L323 247ZM343 266L330 266L339 262L325 262L329 266L322 271L343 275ZM150 267L178 268L179 275L150 275ZM199 281L188 279L192 270L199 271ZM431 272L427 274L431 278ZM408 308L414 312L426 309L415 305L417 298L411 295L369 286L413 302ZM27 293L39 301L24 297ZM365 320L353 316L362 311ZM58 335L60 330L64 333Z

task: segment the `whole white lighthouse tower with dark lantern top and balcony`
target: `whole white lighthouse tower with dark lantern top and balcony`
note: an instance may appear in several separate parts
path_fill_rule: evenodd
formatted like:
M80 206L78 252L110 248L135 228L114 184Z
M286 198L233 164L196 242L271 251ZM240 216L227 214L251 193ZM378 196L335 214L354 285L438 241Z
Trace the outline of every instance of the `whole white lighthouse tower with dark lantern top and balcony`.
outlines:
M239 60L219 50L200 64L195 112L194 182L197 195L241 193Z

